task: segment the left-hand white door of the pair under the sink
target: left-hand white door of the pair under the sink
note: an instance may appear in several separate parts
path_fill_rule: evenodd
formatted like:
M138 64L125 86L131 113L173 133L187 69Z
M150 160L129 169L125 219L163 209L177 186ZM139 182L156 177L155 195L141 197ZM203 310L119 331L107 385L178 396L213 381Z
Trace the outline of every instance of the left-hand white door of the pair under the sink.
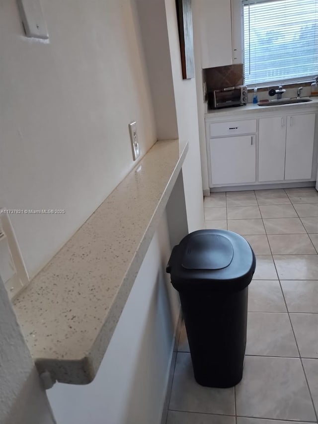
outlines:
M259 119L258 181L284 179L286 122L286 116Z

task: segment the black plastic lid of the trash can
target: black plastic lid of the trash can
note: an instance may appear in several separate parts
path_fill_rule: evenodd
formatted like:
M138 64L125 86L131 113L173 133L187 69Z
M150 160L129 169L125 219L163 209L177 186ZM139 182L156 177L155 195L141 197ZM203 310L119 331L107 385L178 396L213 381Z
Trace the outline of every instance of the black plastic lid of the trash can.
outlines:
M255 265L251 247L239 234L199 230L173 248L166 270L179 291L238 291L250 283Z

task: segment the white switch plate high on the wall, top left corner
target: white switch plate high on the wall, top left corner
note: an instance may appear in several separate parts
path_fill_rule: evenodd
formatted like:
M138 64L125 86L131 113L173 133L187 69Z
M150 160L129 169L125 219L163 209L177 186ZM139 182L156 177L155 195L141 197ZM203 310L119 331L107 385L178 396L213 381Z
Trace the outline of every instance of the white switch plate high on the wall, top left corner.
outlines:
M49 34L40 0L18 0L18 7L25 35L32 38L48 39Z

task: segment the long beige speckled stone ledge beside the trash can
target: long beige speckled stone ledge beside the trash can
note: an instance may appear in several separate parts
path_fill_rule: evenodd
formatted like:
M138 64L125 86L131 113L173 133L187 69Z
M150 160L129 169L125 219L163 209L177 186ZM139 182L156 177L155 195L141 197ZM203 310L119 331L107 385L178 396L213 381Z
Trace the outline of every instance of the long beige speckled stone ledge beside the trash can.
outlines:
M158 141L15 299L40 373L95 377L187 150Z

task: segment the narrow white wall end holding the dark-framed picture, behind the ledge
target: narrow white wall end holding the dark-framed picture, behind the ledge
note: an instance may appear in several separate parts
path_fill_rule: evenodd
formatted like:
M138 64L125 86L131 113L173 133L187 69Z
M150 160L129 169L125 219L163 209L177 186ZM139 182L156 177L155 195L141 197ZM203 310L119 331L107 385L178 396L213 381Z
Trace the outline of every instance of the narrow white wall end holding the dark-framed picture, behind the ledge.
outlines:
M165 0L179 139L188 140L182 167L189 232L205 228L195 79L182 80L175 0Z

